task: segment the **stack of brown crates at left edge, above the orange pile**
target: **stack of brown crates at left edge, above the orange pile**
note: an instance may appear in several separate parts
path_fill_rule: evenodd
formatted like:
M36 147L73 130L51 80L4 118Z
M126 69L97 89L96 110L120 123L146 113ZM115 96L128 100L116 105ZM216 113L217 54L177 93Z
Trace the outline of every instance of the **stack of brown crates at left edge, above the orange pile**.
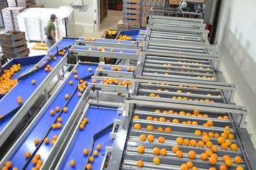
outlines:
M9 59L15 59L29 55L25 33L21 31L7 31L0 34L2 51Z

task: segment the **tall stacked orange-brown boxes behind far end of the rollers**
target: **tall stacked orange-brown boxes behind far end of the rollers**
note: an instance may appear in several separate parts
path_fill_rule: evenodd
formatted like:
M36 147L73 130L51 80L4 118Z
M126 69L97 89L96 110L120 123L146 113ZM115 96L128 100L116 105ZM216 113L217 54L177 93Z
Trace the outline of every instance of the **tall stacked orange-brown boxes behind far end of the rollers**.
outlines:
M166 0L123 0L123 20L118 31L146 27L151 7L166 7Z

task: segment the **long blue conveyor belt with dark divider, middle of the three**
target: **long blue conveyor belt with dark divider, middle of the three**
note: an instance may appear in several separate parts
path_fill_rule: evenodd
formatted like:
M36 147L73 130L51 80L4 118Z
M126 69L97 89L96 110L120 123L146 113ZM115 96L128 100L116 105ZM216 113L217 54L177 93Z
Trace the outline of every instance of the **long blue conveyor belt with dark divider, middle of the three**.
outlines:
M88 65L80 65L77 67L77 75L80 76L80 78L84 76L88 76L92 74L93 72L87 71L88 68L93 68L93 71L97 68L97 66L88 66ZM71 86L68 82L73 81L74 84ZM49 111L52 109L55 109L56 106L60 106L62 109L65 106L65 103L67 102L67 99L65 99L65 94L69 94L71 96L72 92L75 91L79 79L75 79L74 75L70 77L70 79L67 81L67 84L63 86L62 90L59 94L57 94L56 98L52 103L49 105L49 107L44 111L42 116L40 117L39 121L37 121L37 124L33 126L33 129L29 131L29 134L26 136L22 144L19 145L18 149L16 149L15 153L11 156L10 161L14 166L16 166L18 169L22 169L24 164L26 163L27 159L24 156L24 153L26 151L29 151L31 153L34 152L36 149L36 146L34 144L34 139L39 139L39 141L44 140L44 134L48 131L48 129L54 124L55 119L57 118L57 115L60 114L60 112L56 112L54 116L51 116L49 114ZM90 80L88 80L90 81ZM44 161L47 156L49 155L49 151L52 149L52 145L50 144L52 141L52 136L60 135L60 132L62 131L63 127L67 123L67 120L70 117L70 114L72 113L73 109L75 109L75 106L77 102L80 100L80 97L77 96L77 93L79 91L76 90L75 94L72 98L70 98L69 103L67 104L68 111L66 113L62 113L60 117L62 118L62 127L60 129L51 129L49 131L49 134L47 134L47 138L49 138L49 144L43 143L39 150L37 151L37 154L40 154L42 156L42 161ZM32 169L33 164L29 163L27 166L27 169Z

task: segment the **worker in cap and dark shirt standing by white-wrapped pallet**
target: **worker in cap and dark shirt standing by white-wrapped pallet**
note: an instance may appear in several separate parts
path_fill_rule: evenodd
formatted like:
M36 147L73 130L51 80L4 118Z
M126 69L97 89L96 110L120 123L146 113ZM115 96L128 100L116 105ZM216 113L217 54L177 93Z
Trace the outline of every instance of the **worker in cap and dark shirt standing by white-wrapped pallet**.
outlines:
M55 26L54 26L54 21L57 19L55 14L51 14L49 17L49 21L47 21L44 25L44 34L45 34L45 43L47 44L47 48L51 48L53 44L56 43L55 40Z

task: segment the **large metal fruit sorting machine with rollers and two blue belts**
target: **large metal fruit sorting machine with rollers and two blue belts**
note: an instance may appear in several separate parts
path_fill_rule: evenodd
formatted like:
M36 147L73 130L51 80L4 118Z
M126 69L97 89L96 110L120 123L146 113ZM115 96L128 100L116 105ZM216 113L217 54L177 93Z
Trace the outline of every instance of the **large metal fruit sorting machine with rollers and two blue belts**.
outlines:
M195 24L194 19L176 21L163 17L153 21L153 18L151 16L150 23L158 26L148 26L142 48L138 47L141 44L131 41L131 44L126 41L118 44L117 40L111 40L106 45L101 44L100 41L105 40L100 39L77 40L68 54L77 56L77 60L79 56L94 56L124 62L118 62L118 66L77 62L0 166L12 161L12 168L32 169L37 166L32 163L34 156L40 154L41 169L138 169L138 160L143 161L140 169L181 169L181 164L187 161L192 161L198 169L219 169L224 164L224 155L229 155L232 161L235 156L242 158L240 164L233 163L228 169L256 167L255 149L244 128L249 111L233 103L237 86L224 81L219 69L222 57L215 54L216 46L209 45L205 39L207 32L202 31L202 23ZM173 29L164 28L163 25L172 23L169 20L174 20L177 26L180 22L184 28L174 25L171 25ZM199 28L191 28L198 25ZM157 31L166 36L158 39ZM181 38L176 36L177 32ZM188 37L191 39L186 41ZM112 42L115 45L110 45ZM133 45L136 49L130 48ZM136 66L131 60L136 61ZM93 68L92 72L89 67ZM78 84L82 81L87 81L87 86L79 97ZM120 93L125 94L125 98ZM70 94L68 99L65 94ZM56 106L60 106L60 112L50 115L49 111ZM62 126L53 129L52 124L57 124L59 117ZM207 126L208 121L212 121L213 126ZM153 129L148 130L148 125ZM227 126L234 136L229 140L237 149L222 149L218 144L217 136L221 136ZM218 149L216 164L200 159L207 146L198 145L202 135L195 134L196 130L216 135L210 137ZM146 139L141 139L142 134ZM153 135L153 141L149 141L148 135L151 138ZM158 141L159 137L164 140ZM196 145L178 145L177 137L194 140ZM46 144L45 138L53 143ZM35 145L34 139L39 139L39 144ZM144 146L145 151L138 153L138 146ZM179 146L182 158L172 151L173 146ZM156 147L166 149L166 154L153 154ZM196 152L195 159L189 159L191 150ZM27 159L26 151L31 153ZM94 151L98 151L98 155ZM153 162L155 157L159 163Z

